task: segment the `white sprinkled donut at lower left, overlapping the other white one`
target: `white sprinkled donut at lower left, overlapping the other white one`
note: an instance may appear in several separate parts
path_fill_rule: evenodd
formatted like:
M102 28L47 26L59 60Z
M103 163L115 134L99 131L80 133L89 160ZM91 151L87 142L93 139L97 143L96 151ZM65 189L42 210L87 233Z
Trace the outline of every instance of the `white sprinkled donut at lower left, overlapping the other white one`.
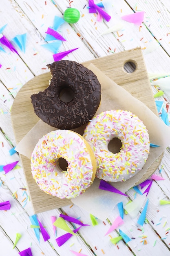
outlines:
M58 160L67 161L67 169ZM40 189L58 198L74 198L93 182L96 160L87 141L71 130L56 130L43 136L31 155L31 170Z

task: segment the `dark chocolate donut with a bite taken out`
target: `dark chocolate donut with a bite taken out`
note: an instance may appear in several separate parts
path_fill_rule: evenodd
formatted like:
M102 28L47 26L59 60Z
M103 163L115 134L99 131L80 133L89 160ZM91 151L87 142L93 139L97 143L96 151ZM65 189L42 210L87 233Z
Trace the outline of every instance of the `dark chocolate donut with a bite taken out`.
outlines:
M47 66L52 75L49 87L31 95L35 114L58 129L73 129L88 123L101 98L97 76L75 61L62 60ZM64 91L73 94L69 102L61 99Z

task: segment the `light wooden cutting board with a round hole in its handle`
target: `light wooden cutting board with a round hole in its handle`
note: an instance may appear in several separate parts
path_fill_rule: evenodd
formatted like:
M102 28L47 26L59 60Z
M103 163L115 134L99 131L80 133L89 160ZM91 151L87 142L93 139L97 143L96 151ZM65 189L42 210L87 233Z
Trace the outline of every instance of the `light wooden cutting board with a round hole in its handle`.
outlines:
M135 71L132 73L128 73L124 70L124 65L128 65L126 63L129 62L133 63L133 66L135 66ZM155 100L140 47L94 59L83 64L88 67L90 63L93 63L110 79L115 81L115 83L122 86L130 92L133 97L142 101L148 108L150 108L150 110L152 110L152 112L157 114ZM50 72L35 76L20 89L15 97L11 110L11 119L17 143L19 143L29 130L31 130L31 128L33 128L33 126L40 120L34 113L30 98L31 94L44 90L49 85L50 79ZM152 164L142 179L139 180L138 184L146 180L155 172L160 164L161 158L162 156ZM20 159L22 161L35 213L72 204L70 199L58 199L41 191L31 175L30 159L23 155L20 155Z

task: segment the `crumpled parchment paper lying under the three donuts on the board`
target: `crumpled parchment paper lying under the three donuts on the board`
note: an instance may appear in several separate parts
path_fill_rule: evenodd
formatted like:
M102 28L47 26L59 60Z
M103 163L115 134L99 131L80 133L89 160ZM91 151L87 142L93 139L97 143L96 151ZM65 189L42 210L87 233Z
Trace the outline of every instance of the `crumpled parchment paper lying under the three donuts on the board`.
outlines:
M112 185L115 188L122 192L126 192L134 186L141 177L143 177L151 164L155 162L155 160L170 145L170 128L147 108L144 103L132 97L130 93L108 78L108 76L102 73L93 64L89 65L88 69L92 70L97 75L102 87L102 100L95 115L111 109L131 111L144 122L148 129L150 142L160 146L157 148L150 147L148 160L139 173L125 182L112 182ZM84 128L85 126L82 126L81 128L74 130L79 134L83 134ZM38 139L52 130L56 130L56 128L53 128L40 120L20 141L15 150L30 158ZM95 178L90 188L87 189L84 194L72 199L72 202L89 213L92 213L97 218L105 220L115 205L121 201L122 195L98 189L99 182L100 180Z

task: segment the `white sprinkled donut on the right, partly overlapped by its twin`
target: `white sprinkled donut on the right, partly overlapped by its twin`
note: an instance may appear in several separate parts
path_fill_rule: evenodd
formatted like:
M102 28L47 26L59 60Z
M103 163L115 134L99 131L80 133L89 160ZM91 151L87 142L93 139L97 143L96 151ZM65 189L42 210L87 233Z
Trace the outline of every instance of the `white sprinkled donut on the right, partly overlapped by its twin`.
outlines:
M144 166L150 149L149 135L143 122L131 112L105 111L93 117L83 137L93 149L97 161L96 176L105 181L125 181ZM121 141L118 153L108 150L113 138Z

